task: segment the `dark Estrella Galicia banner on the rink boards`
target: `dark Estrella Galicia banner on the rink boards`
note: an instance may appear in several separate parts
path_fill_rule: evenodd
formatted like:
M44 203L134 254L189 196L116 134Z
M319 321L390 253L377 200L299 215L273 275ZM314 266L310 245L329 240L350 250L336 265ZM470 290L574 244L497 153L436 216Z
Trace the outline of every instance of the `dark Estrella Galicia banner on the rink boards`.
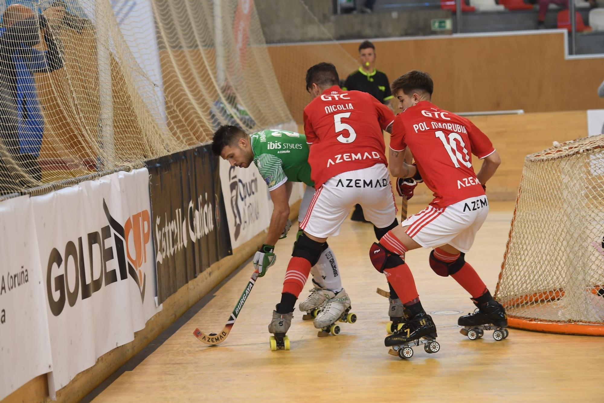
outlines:
M218 158L199 146L147 161L158 298L232 253Z

